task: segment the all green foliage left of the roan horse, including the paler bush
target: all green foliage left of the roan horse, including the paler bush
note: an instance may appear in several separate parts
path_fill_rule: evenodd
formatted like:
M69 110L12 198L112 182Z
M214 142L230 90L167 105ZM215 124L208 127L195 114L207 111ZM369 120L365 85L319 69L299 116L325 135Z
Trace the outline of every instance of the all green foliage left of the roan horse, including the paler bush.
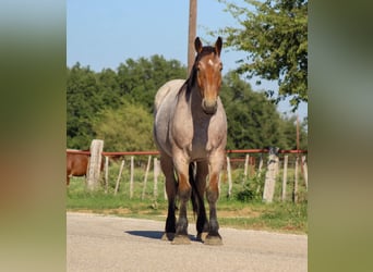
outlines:
M105 137L109 140L105 143L107 151L115 147L120 148L116 151L154 149L149 128L153 119L145 112L153 112L155 94L163 84L185 75L186 67L179 61L167 61L160 55L129 59L118 72L105 69L96 73L80 63L68 67L68 147L87 149L95 137ZM122 138L119 132L124 133Z

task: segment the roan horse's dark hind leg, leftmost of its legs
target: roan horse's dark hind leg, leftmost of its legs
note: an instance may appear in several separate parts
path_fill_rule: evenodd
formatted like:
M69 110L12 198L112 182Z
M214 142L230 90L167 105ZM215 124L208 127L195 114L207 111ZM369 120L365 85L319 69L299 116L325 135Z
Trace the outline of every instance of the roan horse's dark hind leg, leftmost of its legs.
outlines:
M161 239L172 240L176 233L175 198L177 193L172 159L167 154L161 154L160 168L166 176L166 193L168 198L168 212L165 234L163 235Z

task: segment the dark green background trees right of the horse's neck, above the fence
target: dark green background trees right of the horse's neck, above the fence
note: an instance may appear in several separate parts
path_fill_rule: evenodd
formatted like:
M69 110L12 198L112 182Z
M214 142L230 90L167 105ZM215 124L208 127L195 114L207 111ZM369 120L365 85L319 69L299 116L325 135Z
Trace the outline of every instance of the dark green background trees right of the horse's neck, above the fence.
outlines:
M228 149L285 148L281 119L263 92L255 92L237 73L224 77L220 97L228 119Z

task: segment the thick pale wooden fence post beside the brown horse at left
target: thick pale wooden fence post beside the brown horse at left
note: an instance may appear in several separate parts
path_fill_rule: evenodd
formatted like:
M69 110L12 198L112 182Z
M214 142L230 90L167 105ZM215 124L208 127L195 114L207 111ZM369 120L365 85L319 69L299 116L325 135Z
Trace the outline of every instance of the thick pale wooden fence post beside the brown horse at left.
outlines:
M104 140L94 139L91 144L91 158L87 172L87 188L95 190L99 186L99 175L101 170Z

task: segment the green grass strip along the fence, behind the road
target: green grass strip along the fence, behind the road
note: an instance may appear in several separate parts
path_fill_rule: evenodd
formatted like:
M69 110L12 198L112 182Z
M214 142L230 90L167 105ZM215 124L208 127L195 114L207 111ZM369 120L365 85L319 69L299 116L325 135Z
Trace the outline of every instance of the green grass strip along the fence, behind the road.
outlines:
M142 199L144 168L135 169L132 199L130 199L129 194L129 169L125 169L122 173L120 189L117 195L113 195L113 190L119 166L115 165L110 168L107 193L103 188L91 193L86 190L85 180L83 177L71 178L70 187L67 189L67 209L69 211L84 211L165 221L167 215L167 201L164 197L164 178L161 175L158 178L158 195L155 197L153 194L154 177L151 172L147 180L145 198ZM299 186L300 201L298 203L290 201L292 194L291 186L287 188L288 201L280 201L280 182L277 182L274 202L264 203L261 200L263 177L262 180L251 178L245 182L245 185L242 185L242 173L240 170L237 170L232 173L232 180L234 181L232 195L229 198L227 197L228 184L224 182L220 184L220 198L217 203L220 226L298 234L308 233L306 191L301 186L301 183ZM256 193L258 187L260 190ZM208 208L207 203L206 208ZM195 222L191 205L188 210L190 222Z

